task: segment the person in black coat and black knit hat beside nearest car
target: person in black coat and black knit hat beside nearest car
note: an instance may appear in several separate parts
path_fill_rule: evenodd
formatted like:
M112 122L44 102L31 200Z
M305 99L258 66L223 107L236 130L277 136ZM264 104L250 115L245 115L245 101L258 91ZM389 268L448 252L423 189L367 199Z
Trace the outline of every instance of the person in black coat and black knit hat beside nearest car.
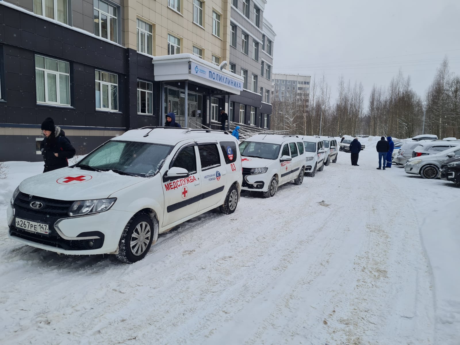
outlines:
M56 170L69 166L69 158L75 155L75 149L65 137L64 131L54 126L51 117L47 117L41 124L41 130L45 138L40 143L40 151L45 161L43 172Z

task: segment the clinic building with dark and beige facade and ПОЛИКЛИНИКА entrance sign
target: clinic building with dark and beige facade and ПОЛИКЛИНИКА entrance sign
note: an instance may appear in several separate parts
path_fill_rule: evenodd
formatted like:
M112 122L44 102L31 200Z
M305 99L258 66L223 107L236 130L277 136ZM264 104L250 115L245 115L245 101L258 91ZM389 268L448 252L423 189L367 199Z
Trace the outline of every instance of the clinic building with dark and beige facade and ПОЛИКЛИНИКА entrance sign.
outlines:
M40 161L48 116L80 153L127 129L161 125L169 111L182 125L217 128L220 109L234 113L244 104L248 121L268 127L260 114L271 113L275 34L262 16L266 1L244 0L240 62L230 46L230 13L241 16L243 0L234 2L0 0L0 161ZM254 42L261 49L253 59ZM243 91L245 79L230 62L257 76L264 99Z

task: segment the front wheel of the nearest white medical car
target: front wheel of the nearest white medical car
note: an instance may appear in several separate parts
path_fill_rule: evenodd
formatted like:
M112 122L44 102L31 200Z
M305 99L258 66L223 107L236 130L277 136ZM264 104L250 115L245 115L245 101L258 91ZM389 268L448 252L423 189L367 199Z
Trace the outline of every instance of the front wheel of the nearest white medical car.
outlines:
M158 220L152 220L147 213L138 213L130 219L121 234L116 258L127 264L142 260L149 252L152 242L157 239Z

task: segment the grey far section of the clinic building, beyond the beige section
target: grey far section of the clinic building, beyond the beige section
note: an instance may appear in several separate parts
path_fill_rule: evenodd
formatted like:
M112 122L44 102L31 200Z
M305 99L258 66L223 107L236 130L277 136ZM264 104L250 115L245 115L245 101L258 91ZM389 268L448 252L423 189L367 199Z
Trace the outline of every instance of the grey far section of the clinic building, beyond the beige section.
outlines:
M235 122L269 128L271 73L275 32L264 17L266 0L232 0L230 71L244 79L243 91L231 96L229 117Z

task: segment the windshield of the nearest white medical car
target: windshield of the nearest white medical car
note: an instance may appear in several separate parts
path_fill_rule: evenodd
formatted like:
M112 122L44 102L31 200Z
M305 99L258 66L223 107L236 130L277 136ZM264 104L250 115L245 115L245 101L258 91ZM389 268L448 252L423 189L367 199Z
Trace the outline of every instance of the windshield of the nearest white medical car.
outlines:
M171 145L111 140L87 155L75 167L150 177L158 173L171 150Z

